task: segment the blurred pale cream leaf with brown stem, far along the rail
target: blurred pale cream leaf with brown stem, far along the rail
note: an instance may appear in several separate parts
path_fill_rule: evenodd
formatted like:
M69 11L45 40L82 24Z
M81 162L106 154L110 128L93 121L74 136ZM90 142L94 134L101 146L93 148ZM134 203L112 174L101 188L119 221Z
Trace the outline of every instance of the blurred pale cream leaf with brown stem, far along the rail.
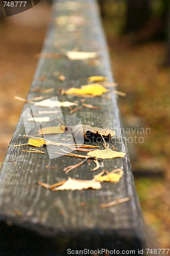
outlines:
M64 54L70 60L84 60L84 59L92 59L98 57L97 52L78 52L78 51L67 51L63 49L59 42L55 42L54 46L59 49L59 51Z

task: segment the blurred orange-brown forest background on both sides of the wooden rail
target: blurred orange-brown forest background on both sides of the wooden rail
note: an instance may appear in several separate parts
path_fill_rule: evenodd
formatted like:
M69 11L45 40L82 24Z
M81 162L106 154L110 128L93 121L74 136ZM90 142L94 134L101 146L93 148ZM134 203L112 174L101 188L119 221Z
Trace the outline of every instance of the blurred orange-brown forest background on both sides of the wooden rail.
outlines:
M170 1L99 0L124 127L150 128L143 143L129 143L143 217L160 248L170 245ZM51 5L11 17L0 10L1 148L8 144L30 89ZM137 135L141 137L140 135Z

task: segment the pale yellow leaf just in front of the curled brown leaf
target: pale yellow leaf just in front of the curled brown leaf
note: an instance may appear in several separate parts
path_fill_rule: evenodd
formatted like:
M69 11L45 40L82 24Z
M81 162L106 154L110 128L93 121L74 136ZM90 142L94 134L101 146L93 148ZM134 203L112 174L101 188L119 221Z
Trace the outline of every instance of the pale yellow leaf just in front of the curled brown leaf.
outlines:
M124 157L125 155L126 153L116 152L111 150L110 148L106 148L106 150L94 150L92 152L87 153L87 156L97 157L102 159Z

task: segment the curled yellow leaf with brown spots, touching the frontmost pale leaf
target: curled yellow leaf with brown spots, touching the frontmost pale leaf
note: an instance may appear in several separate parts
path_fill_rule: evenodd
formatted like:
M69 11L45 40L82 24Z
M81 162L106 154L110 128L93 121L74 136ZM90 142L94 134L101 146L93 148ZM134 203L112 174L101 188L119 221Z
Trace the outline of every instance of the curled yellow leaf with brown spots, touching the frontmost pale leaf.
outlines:
M122 169L115 169L107 175L96 178L97 181L109 181L109 182L118 182L122 178L124 171ZM95 176L94 176L95 177Z

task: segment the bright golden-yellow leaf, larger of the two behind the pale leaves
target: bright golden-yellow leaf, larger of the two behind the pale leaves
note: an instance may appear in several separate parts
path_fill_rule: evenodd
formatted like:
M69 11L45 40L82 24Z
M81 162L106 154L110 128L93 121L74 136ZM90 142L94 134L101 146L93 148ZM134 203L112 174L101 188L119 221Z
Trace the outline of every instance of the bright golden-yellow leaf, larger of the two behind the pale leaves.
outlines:
M74 95L84 95L84 94L91 94L91 95L102 95L103 93L106 93L107 89L99 83L92 83L88 84L87 86L82 86L81 89L71 87L67 91L65 91L65 94L74 94Z

